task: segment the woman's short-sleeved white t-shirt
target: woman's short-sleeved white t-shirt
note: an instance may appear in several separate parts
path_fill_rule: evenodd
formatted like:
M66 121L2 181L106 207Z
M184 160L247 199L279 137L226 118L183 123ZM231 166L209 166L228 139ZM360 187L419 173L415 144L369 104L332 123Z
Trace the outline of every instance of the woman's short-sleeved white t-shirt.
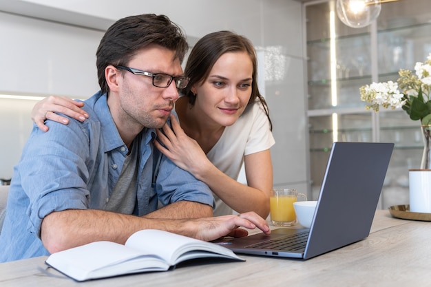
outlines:
M207 157L220 171L237 180L244 156L265 151L274 144L268 117L257 99L254 105L246 107L233 125L224 128L222 136L207 153ZM214 198L214 216L232 214L232 209L217 195L214 194Z

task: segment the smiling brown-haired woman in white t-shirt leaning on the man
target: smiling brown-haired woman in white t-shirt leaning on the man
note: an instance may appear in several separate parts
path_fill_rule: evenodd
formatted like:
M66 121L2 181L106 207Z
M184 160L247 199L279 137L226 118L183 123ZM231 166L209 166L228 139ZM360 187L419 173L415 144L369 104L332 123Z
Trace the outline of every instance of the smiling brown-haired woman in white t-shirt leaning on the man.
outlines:
M212 189L214 215L255 211L269 214L273 184L268 107L257 88L257 60L251 42L233 32L207 34L191 50L185 74L189 85L176 101L171 127L158 131L154 145L179 167ZM81 104L49 97L36 104L32 118L43 130L45 118L67 124L85 120ZM246 185L236 179L244 163Z

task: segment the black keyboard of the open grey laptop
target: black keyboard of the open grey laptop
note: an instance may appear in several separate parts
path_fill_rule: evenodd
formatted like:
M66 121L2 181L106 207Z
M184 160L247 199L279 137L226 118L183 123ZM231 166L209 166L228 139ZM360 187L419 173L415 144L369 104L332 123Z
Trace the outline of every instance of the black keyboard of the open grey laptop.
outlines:
M308 231L302 231L288 237L267 240L246 246L247 248L262 248L282 251L301 251L307 244Z

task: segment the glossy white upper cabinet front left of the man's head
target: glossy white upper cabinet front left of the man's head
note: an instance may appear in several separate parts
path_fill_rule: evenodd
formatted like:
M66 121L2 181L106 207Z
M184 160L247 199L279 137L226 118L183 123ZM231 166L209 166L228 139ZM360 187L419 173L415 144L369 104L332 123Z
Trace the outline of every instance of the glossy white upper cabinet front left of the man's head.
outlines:
M0 92L82 97L98 89L103 32L0 12Z

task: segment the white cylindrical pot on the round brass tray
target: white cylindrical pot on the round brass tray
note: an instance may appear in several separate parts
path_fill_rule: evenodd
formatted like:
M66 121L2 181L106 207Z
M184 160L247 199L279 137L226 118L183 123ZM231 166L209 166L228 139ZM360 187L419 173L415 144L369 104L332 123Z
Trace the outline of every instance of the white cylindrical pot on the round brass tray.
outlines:
M431 213L431 169L408 171L410 211Z

